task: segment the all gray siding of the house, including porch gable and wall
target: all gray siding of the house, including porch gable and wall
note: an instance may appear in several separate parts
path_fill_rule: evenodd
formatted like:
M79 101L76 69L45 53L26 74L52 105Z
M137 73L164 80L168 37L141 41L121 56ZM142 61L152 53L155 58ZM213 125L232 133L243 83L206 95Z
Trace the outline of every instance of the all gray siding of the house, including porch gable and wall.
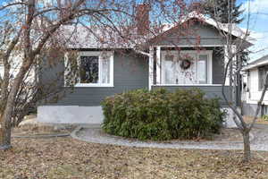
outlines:
M174 29L176 30L176 29ZM177 29L178 30L178 29ZM196 24L192 27L192 30L196 32L196 37L200 37L199 45L207 45L207 49L214 50L213 54L213 84L221 84L223 79L223 58L221 53L222 37L219 35L218 30L215 30L212 26L205 24ZM168 46L193 46L197 45L196 38L194 36L178 36L177 31L170 30L165 33L164 36L154 39L154 42L150 45L168 45ZM188 48L189 49L189 48ZM63 71L64 62L63 58L58 60L57 64L48 65L44 63L45 68L39 72L39 81L42 84L47 84L50 81L54 81L54 88L63 89L65 95L56 103L50 103L49 105L56 106L99 106L100 102L108 96L112 96L116 93L121 93L127 90L147 89L148 88L148 60L145 56L134 55L134 53L123 52L115 53L113 62L113 88L63 88ZM46 65L45 65L46 64ZM153 87L153 89L159 87ZM193 88L190 86L180 87L165 87L169 90L175 90L177 88L188 89ZM205 91L208 98L222 98L221 86L198 86L201 90ZM228 93L228 89L225 89ZM229 97L229 94L227 95ZM222 101L222 106L226 104Z

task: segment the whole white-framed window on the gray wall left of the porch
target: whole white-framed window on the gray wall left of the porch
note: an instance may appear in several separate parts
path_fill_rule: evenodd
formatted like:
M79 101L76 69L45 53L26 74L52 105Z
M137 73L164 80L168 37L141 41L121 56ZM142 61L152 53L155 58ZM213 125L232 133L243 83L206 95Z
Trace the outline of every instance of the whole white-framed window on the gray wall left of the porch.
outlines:
M75 87L113 87L113 52L79 52L77 64Z

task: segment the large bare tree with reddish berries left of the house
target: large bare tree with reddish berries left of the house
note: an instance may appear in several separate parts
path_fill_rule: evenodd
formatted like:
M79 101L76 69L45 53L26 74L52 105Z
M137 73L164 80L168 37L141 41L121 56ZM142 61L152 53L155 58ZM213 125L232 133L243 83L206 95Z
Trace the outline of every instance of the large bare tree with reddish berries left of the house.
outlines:
M162 33L163 24L178 23L181 2L147 1L142 8L154 10L150 14L152 25L145 25L147 21L144 21L141 23L144 29L140 30L141 24L135 21L145 14L136 15L140 8L136 0L5 1L0 6L0 50L4 65L4 75L0 78L0 149L11 148L12 124L20 123L39 100L58 92L52 90L40 95L43 87L30 81L29 76L43 55L54 48L62 54L70 53L70 44L79 48L81 42L73 38L79 27L93 34L100 47L132 47L148 55L143 50L145 42Z

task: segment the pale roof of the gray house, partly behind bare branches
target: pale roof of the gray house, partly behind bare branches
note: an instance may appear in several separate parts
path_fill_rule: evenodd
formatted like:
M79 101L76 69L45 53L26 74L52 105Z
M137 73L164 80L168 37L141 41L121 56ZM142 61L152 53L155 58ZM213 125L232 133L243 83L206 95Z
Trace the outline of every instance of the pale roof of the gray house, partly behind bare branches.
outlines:
M198 19L199 21L205 21L205 23L213 26L218 30L222 30L225 32L229 31L231 28L231 34L237 38L245 38L246 33L241 30L236 24L225 24L218 21L214 21L214 19L206 17L204 14L201 13L188 13L187 16L181 18L181 20L176 24L165 24L162 30L159 31L158 34L153 36L141 36L136 33L135 29L131 29L125 32L124 27L117 27L122 34L126 34L126 36L130 36L132 41L124 40L123 38L119 37L118 33L114 30L107 29L100 29L99 27L85 27L85 26L71 26L66 25L63 27L63 30L66 32L64 33L70 38L71 43L68 44L70 48L133 48L136 45L142 45L146 42L150 41L150 39L155 38L157 36L161 36L162 34L166 33L169 30L172 30L174 27L178 27L178 24L184 23L191 19ZM105 38L102 41L102 38ZM250 38L247 36L246 38L247 43L249 46L252 45L254 38ZM101 42L102 41L102 42Z

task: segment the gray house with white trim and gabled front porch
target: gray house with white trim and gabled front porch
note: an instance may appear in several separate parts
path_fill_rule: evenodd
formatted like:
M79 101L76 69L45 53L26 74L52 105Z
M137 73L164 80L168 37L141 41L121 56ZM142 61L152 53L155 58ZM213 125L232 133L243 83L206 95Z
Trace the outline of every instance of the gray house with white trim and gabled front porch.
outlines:
M146 53L139 53L133 47L105 47L101 49L92 43L91 37L80 38L84 46L79 50L80 72L74 88L68 87L67 78L62 76L57 85L66 93L56 103L38 107L38 120L46 123L92 123L103 120L101 101L116 93L127 90L165 88L167 90L199 88L207 98L222 98L223 71L226 59L224 39L212 19L189 16L184 22L197 20L193 27L199 37L199 44L193 37L178 37L176 27L163 32L163 37L147 41ZM222 24L221 30L227 26ZM82 34L82 33L80 33ZM239 28L232 30L233 38L241 38L244 33ZM82 35L81 35L82 36ZM89 44L89 45L88 45ZM247 47L251 46L249 42ZM180 47L180 51L178 51ZM197 50L196 47L201 47ZM48 67L39 76L46 83L55 79L57 72L63 71L60 64ZM70 68L69 68L70 72ZM229 93L229 88L225 89ZM227 95L229 97L229 95ZM239 103L239 98L237 98ZM222 108L227 104L221 101ZM228 108L227 108L228 109ZM230 110L229 110L230 111Z

